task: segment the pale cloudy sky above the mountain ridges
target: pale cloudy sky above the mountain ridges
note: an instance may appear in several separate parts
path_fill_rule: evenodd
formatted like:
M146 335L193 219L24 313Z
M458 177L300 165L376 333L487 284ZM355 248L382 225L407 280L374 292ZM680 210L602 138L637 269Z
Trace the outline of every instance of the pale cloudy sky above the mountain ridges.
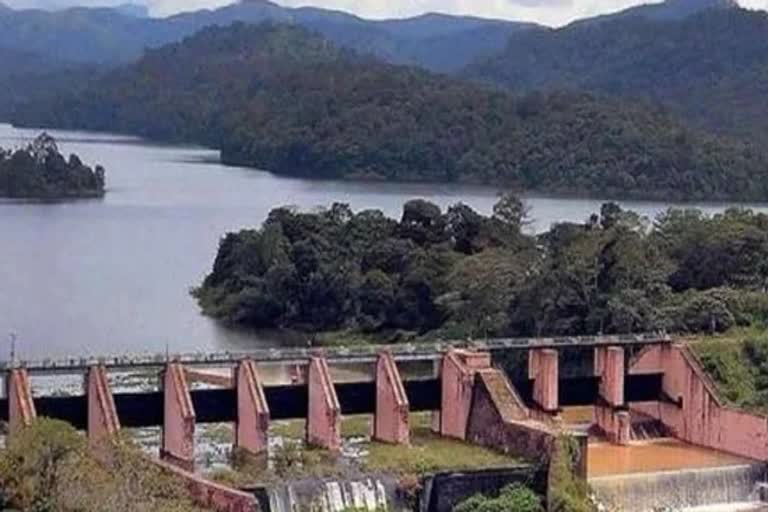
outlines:
M14 7L53 5L106 5L125 0L0 0ZM153 15L166 15L203 7L216 7L231 0L135 0L150 6ZM562 25L576 18L617 11L654 0L276 0L286 6L315 5L355 14L400 18L424 12L474 14L494 18L536 21ZM744 7L768 10L768 0L739 0Z

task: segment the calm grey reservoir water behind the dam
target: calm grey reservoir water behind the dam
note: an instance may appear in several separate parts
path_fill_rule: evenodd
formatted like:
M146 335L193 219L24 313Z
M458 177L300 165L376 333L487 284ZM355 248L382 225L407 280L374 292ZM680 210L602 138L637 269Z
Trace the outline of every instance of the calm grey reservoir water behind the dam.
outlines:
M20 145L38 132L0 125L0 146ZM94 201L0 202L0 359L7 357L11 331L28 358L274 344L268 336L217 326L189 296L210 269L223 233L257 226L281 205L308 209L342 201L397 217L404 201L423 197L488 213L498 195L459 185L281 178L222 166L206 149L51 133L62 152L104 165L109 191ZM602 202L532 197L532 229L583 220ZM653 216L668 205L625 206Z

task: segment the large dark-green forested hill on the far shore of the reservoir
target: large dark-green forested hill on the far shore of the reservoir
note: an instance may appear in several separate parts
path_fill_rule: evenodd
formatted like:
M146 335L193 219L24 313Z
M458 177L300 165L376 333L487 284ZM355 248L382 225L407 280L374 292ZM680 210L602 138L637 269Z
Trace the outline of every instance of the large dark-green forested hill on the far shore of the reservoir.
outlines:
M336 49L285 25L211 28L17 122L221 148L313 178L467 181L576 194L768 197L765 157L663 112L510 93Z

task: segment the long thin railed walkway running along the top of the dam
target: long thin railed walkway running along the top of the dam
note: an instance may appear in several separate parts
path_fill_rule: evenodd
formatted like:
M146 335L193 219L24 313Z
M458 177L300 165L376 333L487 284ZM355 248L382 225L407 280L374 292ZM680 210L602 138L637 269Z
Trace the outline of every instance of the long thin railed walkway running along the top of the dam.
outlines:
M213 352L190 354L140 354L104 357L70 357L20 362L1 362L0 370L23 367L31 373L75 373L95 364L103 364L110 370L160 368L168 361L186 366L228 366L250 358L262 364L300 364L312 355L322 353L336 364L371 363L382 350L392 353L396 361L434 361L451 348L476 350L515 350L530 348L566 348L594 346L653 345L671 342L666 333L645 333L620 336L569 336L557 338L496 338L487 340L437 341L397 345L357 345L317 348L270 348L238 352Z

